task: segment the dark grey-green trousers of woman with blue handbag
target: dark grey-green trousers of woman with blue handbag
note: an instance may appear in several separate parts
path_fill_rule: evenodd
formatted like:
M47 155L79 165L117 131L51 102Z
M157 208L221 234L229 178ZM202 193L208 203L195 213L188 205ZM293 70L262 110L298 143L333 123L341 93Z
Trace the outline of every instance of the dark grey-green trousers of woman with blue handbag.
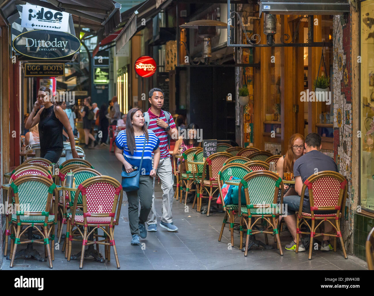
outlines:
M152 206L152 183L154 178L140 175L139 190L126 192L129 202L129 224L131 235L139 235L139 223L145 223ZM140 201L140 213L139 212Z

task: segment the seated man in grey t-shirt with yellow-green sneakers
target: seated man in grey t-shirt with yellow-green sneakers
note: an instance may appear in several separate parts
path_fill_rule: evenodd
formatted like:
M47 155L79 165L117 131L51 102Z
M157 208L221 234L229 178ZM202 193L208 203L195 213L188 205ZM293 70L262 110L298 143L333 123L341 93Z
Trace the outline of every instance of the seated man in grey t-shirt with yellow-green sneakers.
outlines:
M325 170L338 172L337 165L334 160L320 152L321 136L317 133L310 133L305 138L306 154L295 161L294 176L295 176L295 191L298 195L290 195L283 198L283 203L287 204L287 215L283 215L288 230L291 232L293 240L286 245L287 250L296 250L296 216L295 211L300 207L301 189L306 179L313 174L318 174ZM306 189L304 193L303 212L310 213L309 190ZM325 232L328 233L333 230L330 223L325 223ZM299 238L300 239L300 238ZM332 249L329 243L329 236L324 235L324 241L321 250L329 251ZM298 252L305 251L303 244L300 242Z

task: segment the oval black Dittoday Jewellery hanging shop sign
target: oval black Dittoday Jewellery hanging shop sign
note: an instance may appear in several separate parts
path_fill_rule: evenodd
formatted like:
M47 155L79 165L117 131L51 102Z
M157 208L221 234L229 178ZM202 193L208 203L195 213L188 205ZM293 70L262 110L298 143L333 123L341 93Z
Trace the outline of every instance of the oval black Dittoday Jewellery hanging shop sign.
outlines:
M33 59L60 59L76 53L80 40L67 32L33 30L14 38L13 48Z

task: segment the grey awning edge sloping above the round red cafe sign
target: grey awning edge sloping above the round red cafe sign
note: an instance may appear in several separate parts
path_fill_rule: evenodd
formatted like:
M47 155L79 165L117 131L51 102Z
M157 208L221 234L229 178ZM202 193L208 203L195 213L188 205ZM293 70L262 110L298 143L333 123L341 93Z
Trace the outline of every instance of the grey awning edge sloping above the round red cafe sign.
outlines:
M121 34L116 38L116 53L118 53L123 46L134 36L138 31L140 31L148 21L150 21L160 10L165 9L172 0L163 1L161 5L156 9L156 0L148 0L142 4L134 14L131 16L130 20L127 22L125 28L122 30ZM144 24L145 20L145 24Z

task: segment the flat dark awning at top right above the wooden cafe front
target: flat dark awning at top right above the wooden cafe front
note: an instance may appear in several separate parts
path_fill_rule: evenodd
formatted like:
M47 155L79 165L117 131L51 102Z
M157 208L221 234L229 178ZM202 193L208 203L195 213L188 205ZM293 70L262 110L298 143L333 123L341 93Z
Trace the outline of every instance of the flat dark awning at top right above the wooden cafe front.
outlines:
M347 0L261 0L260 17L263 12L278 15L341 15L349 12L349 3Z

